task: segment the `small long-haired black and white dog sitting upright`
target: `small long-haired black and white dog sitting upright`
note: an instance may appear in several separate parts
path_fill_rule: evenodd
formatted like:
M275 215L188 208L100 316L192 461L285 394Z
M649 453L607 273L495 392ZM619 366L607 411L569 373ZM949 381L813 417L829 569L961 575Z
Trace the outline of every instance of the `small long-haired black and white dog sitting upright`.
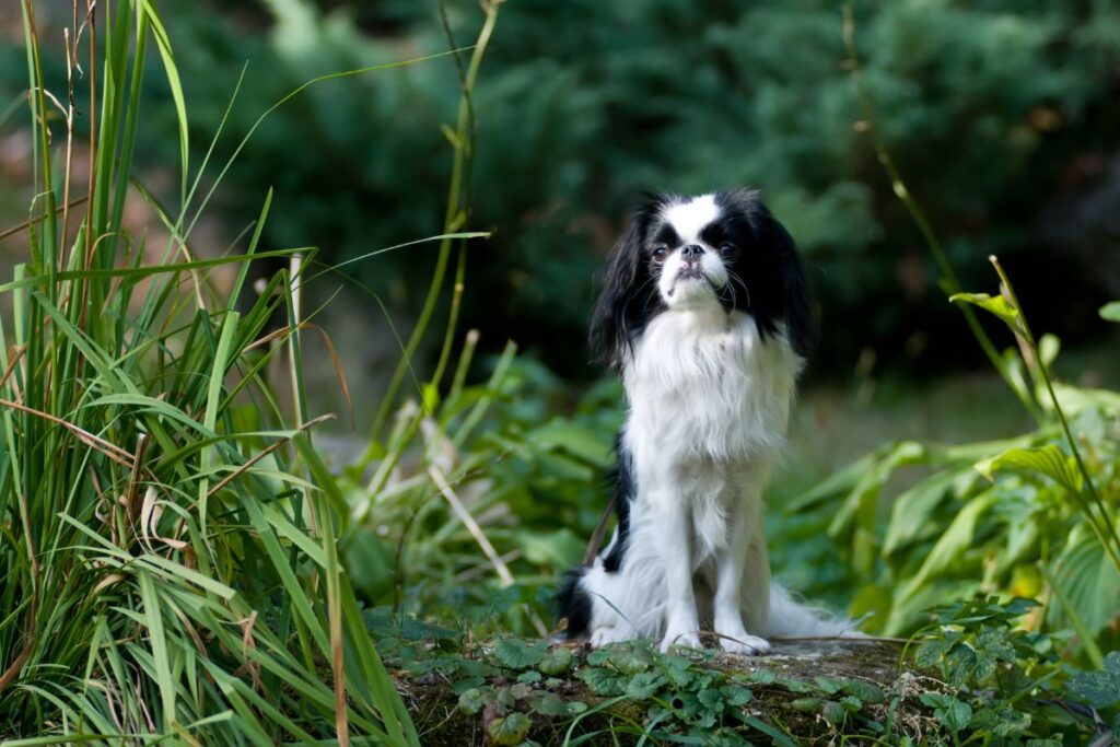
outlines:
M652 198L609 260L592 351L620 371L609 544L559 594L567 635L763 654L848 620L771 582L763 487L816 335L801 260L756 192ZM858 634L857 634L858 635Z

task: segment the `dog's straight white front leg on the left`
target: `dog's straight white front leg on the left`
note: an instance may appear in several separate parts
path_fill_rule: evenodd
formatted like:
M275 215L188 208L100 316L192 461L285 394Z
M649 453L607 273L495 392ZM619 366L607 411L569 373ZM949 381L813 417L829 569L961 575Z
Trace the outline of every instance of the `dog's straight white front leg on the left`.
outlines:
M672 480L661 484L673 485ZM665 635L661 651L670 647L700 647L700 617L692 588L692 522L684 496L678 491L660 491L653 498L665 572Z

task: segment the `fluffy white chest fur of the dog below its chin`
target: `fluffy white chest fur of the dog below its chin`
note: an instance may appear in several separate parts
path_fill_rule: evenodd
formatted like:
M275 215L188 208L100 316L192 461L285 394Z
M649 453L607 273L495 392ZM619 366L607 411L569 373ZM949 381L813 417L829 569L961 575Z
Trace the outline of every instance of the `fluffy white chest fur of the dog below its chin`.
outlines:
M784 441L801 365L783 337L764 343L743 312L662 312L624 372L627 440L679 466L766 457Z

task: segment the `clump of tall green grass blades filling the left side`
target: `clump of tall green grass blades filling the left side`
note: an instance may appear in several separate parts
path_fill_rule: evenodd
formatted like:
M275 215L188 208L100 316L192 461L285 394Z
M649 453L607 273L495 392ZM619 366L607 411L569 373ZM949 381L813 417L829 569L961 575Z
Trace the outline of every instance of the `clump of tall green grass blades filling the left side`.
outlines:
M270 195L244 255L192 252L214 146L188 177L187 104L153 3L75 2L66 91L44 80L31 0L22 18L36 197L29 259L0 284L0 737L418 744L339 562L351 508L311 447L323 418L304 403L298 286L315 250L259 249ZM132 175L157 56L183 167L174 209ZM166 246L122 227L130 188ZM288 269L251 293L259 259ZM208 277L222 264L237 268L227 295ZM290 393L270 386L270 362Z

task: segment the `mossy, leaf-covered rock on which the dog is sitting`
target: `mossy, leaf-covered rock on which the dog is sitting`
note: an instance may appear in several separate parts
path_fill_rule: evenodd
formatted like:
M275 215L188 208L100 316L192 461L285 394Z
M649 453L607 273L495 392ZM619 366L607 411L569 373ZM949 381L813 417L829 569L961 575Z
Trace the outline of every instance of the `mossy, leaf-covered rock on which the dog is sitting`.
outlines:
M493 664L497 645L466 656ZM828 744L874 737L885 725L913 737L934 726L917 700L920 675L900 664L892 642L778 641L762 657L663 656L646 644L571 650L572 665L559 676L542 674L538 660L498 663L494 676L466 682L476 685L466 695L463 683L435 670L399 673L398 688L426 747L559 745L569 735L585 745L635 744L646 730L711 744Z

